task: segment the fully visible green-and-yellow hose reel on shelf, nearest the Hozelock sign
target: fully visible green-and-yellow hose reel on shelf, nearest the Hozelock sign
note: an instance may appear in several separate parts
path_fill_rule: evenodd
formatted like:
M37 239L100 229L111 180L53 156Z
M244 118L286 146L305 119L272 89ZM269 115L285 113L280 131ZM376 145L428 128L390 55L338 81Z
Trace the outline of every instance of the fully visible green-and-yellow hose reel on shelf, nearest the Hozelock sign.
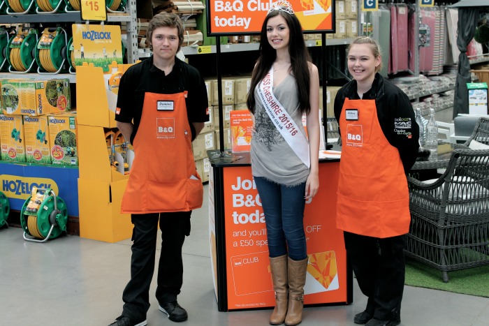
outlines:
M54 74L67 71L66 31L61 27L47 27L36 46L38 73Z

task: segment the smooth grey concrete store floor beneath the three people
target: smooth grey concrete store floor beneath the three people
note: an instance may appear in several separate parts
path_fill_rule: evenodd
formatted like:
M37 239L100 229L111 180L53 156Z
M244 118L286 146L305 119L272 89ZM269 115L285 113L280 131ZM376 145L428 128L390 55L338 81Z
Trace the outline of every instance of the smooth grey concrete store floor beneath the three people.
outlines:
M189 320L173 323L158 310L153 282L148 325L268 325L268 309L217 311L207 239L205 198L203 208L192 215L191 235L184 244L179 302L189 312ZM0 230L0 325L112 323L122 311L130 259L129 239L108 244L67 236L36 244L25 242L20 228ZM355 325L353 316L363 311L367 300L356 282L353 295L350 305L306 308L301 325ZM406 286L401 318L402 325L410 326L487 326L489 299Z

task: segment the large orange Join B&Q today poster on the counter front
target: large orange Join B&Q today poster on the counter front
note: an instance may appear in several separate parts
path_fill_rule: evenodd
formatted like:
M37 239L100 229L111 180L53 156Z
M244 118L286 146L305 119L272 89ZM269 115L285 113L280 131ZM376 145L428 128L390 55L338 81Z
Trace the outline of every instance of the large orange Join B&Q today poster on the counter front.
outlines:
M343 232L335 224L339 164L319 164L321 187L305 207L305 304L347 302L346 251ZM224 168L223 186L227 308L274 306L265 216L251 168Z

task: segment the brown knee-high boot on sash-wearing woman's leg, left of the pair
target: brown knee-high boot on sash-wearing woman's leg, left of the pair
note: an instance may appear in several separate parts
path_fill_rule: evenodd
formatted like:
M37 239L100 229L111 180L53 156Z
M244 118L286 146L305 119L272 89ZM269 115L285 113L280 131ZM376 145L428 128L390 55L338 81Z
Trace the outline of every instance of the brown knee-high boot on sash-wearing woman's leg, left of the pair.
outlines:
M287 313L287 297L289 296L287 255L270 258L270 272L272 272L273 290L275 290L275 309L270 316L270 325L281 325Z

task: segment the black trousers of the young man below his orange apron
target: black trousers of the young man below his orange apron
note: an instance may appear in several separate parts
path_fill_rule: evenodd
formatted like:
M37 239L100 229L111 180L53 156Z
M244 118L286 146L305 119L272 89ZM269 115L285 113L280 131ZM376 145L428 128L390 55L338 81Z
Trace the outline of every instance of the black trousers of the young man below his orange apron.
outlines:
M132 214L131 281L122 294L123 316L144 320L149 309L149 286L154 274L158 222L161 229L161 254L158 266L156 299L159 304L173 302L183 283L182 246L190 235L191 212Z

